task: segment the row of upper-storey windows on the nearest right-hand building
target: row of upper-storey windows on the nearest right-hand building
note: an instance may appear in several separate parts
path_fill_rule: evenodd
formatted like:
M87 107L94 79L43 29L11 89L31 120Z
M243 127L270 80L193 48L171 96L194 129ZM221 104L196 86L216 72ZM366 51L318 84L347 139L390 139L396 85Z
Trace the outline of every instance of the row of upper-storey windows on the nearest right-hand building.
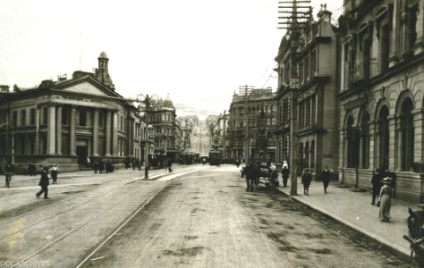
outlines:
M362 22L356 33L344 38L344 88L387 71L391 51L397 53L395 56L400 62L411 58L417 40L418 5L410 6L403 1L399 6L398 14L391 14L391 5L380 7L375 21ZM391 16L399 16L395 28Z

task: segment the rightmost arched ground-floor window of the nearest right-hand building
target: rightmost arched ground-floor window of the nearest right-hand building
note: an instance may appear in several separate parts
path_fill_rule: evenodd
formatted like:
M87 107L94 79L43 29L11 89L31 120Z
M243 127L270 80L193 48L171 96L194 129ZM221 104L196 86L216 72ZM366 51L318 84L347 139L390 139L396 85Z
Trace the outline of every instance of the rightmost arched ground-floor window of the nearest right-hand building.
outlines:
M413 104L411 98L407 98L403 101L401 107L401 169L403 171L409 171L413 165L413 142L414 142L414 130L413 130L413 115L411 113Z

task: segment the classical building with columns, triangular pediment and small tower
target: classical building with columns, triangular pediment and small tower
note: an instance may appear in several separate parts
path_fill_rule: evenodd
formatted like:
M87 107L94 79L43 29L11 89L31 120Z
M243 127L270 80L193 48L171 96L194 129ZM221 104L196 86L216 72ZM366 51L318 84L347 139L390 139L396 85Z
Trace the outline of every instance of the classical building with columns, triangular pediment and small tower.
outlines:
M115 92L106 53L95 72L43 80L36 88L0 91L0 163L24 172L30 161L78 171L98 160L123 163L140 155L136 107Z

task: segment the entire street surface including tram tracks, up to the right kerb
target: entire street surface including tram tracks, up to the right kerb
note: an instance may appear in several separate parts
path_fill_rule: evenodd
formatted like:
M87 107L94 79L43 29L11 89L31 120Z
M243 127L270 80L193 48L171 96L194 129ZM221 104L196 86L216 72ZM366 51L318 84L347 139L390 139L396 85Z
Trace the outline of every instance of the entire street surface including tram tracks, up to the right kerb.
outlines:
M131 170L63 174L48 200L33 197L36 179L16 176L12 182L21 187L1 190L1 201L13 195L13 204L0 212L0 262L10 267L410 267L390 247L293 201L281 189L259 182L247 192L234 165L181 166L172 173L151 172L150 180L140 175ZM311 195L323 196L320 189ZM326 197L332 198L330 189Z

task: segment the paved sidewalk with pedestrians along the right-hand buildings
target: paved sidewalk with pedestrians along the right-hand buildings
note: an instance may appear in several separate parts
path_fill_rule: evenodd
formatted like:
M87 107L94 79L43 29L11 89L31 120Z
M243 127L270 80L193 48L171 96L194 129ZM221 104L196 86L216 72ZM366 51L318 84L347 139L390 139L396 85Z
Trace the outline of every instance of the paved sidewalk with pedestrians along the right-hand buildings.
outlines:
M322 182L312 181L310 195L306 197L303 195L303 185L300 181L301 178L298 178L298 195L293 199L359 230L404 255L411 254L410 245L403 239L403 235L408 234L406 224L409 216L408 207L417 210L420 209L418 204L392 199L390 222L379 222L379 208L377 205L371 205L372 195L369 192L354 192L353 188L340 188L338 182L331 181L327 194L324 194ZM278 189L290 196L290 185L286 188L280 186Z

